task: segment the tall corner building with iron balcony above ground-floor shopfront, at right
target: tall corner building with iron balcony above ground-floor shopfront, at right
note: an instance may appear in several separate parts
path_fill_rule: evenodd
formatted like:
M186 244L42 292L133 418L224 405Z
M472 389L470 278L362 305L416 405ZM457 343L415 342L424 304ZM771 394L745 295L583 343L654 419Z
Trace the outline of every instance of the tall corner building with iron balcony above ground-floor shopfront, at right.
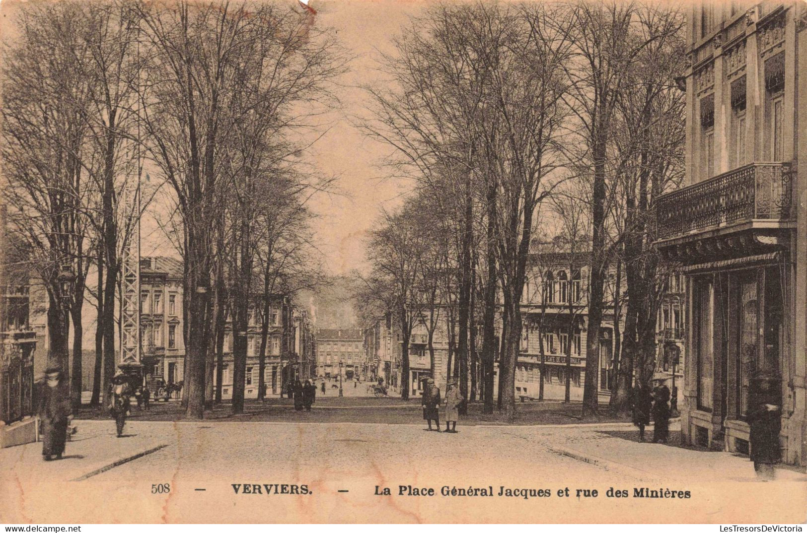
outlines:
M783 457L807 464L805 5L695 4L688 57L686 186L655 202L687 277L684 441L749 452L750 379L774 374Z

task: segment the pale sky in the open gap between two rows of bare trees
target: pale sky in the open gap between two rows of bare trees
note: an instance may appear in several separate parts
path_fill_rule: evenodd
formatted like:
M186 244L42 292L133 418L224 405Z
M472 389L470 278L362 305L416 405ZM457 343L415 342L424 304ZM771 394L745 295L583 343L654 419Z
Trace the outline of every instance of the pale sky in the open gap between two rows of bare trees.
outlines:
M311 0L317 10L316 24L337 31L342 45L352 53L349 73L340 91L345 115L366 116L366 94L358 85L373 84L383 77L375 72L379 52L391 53L391 38L399 35L411 15L418 15L427 2L391 0ZM398 205L400 196L411 185L383 181L380 160L390 148L367 139L346 118L314 147L316 163L326 174L341 177L339 185L346 198L322 198L316 204L321 219L315 230L328 256L332 273L347 273L364 264L363 239L382 206Z

